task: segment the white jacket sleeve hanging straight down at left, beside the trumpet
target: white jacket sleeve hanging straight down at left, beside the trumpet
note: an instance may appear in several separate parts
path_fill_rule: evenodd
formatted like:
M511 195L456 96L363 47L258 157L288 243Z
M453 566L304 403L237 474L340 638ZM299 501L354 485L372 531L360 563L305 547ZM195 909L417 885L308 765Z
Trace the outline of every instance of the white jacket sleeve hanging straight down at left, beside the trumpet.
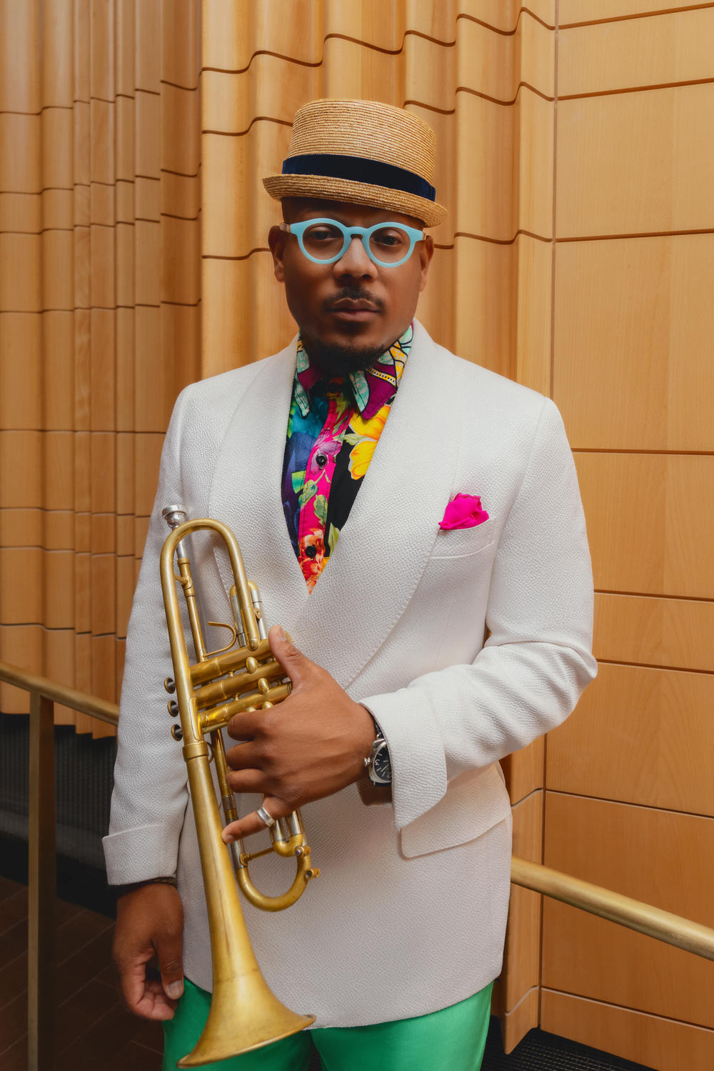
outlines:
M168 536L162 509L183 501L179 443L186 391L177 401L164 441L126 636L109 835L104 854L109 885L176 873L187 802L181 745L170 735L164 679L172 675L158 561Z

